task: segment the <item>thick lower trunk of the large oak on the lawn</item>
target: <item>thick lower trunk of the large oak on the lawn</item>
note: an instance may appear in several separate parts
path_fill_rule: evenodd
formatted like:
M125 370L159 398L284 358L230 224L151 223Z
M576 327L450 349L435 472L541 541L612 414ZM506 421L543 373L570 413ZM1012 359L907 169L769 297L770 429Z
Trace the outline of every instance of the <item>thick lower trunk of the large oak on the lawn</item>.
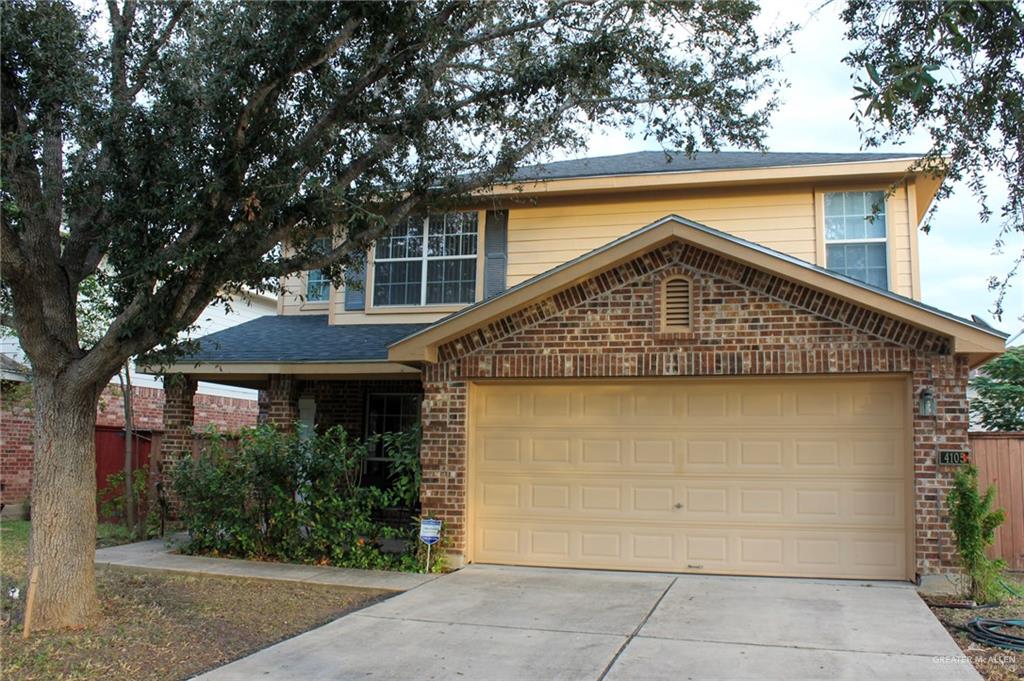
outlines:
M29 574L38 566L33 629L84 627L99 612L95 585L96 402L63 377L33 380L35 464Z

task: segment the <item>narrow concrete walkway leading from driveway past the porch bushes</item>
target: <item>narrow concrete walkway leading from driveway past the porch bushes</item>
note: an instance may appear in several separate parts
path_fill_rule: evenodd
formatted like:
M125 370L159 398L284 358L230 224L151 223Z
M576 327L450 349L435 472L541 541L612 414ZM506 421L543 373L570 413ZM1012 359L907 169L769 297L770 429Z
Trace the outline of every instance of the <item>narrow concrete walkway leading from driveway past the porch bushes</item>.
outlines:
M415 574L412 572L389 572L372 569L350 569L321 565L293 565L290 563L268 563L257 560L237 560L232 558L207 558L185 556L174 553L180 539L151 540L113 546L96 550L97 565L122 565L144 569L189 572L193 574L215 574L218 577L248 577L260 580L282 580L284 582L308 582L330 584L338 587L382 589L386 591L407 591L437 579L437 574Z

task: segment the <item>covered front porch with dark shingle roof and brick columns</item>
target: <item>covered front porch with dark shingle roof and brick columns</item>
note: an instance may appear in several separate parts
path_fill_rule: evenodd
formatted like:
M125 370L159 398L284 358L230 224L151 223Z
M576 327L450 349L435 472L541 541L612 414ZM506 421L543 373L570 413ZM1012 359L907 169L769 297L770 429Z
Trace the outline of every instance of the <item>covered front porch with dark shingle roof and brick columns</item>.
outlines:
M259 391L258 423L284 432L344 428L354 439L407 432L420 422L420 371L387 360L387 347L424 325L331 325L327 314L264 316L199 340L199 349L164 374L164 434L156 473L203 449L197 428L201 381ZM230 436L233 433L224 433ZM386 486L379 441L368 453L362 484ZM172 500L173 503L173 500Z

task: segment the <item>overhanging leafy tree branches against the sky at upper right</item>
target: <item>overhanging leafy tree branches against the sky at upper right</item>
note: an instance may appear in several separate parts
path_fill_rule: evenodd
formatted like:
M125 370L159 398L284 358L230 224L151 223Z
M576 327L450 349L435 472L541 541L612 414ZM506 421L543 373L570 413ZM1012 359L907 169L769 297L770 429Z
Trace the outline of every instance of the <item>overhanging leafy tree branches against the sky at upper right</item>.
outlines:
M965 182L992 215L990 173L1007 189L995 248L1024 232L1024 17L1021 0L848 0L847 57L857 74L855 118L865 145L899 143L919 131L932 146L914 170L944 175L938 199ZM934 206L933 206L934 211ZM926 218L929 228L931 213ZM1024 252L992 276L993 312Z

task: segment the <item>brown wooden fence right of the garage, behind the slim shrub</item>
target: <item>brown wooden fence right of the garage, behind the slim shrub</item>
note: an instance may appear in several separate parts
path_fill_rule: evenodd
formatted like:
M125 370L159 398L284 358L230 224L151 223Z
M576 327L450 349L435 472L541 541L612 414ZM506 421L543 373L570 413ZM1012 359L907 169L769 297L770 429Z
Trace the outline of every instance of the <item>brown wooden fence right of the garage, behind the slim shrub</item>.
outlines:
M982 490L996 488L995 503L1007 512L993 555L1013 570L1024 570L1024 432L971 433L972 459Z

